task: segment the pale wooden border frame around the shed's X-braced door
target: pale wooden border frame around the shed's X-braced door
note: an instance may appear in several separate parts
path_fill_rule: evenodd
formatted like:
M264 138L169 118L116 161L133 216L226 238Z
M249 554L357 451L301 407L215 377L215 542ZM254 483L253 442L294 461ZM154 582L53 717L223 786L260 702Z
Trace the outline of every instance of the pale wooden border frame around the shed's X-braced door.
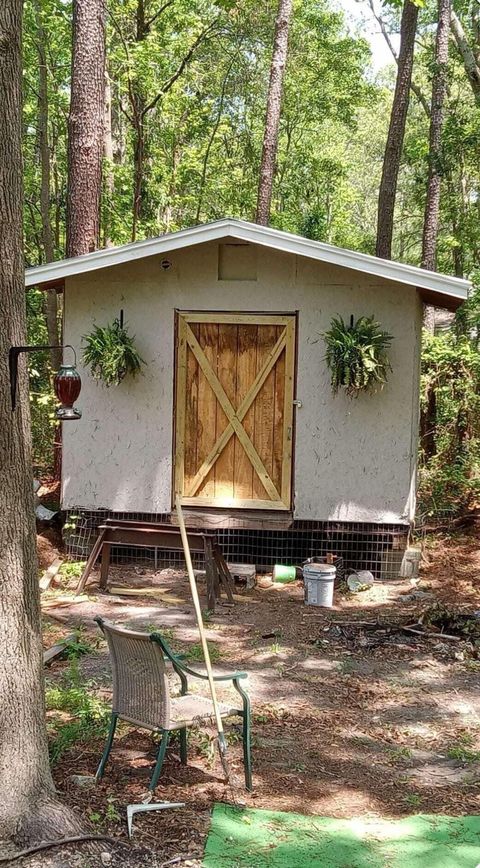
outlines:
M199 509L220 509L222 511L229 510L268 510L270 513L293 513L293 480L295 472L295 396L297 386L297 345L298 345L298 311L216 311L216 310L183 310L175 309L174 322L174 379L173 379L173 453L172 453L172 506L175 506L176 495L180 495L181 503L190 508L198 507ZM212 502L212 498L201 497L184 497L180 491L183 488L183 461L184 461L184 437L179 438L179 427L182 429L182 434L185 433L185 401L182 403L180 396L185 396L186 386L186 365L180 366L181 354L186 361L187 349L181 346L182 341L186 343L186 334L182 330L189 323L225 323L225 324L243 324L243 325L284 325L285 326L285 400L284 400L284 424L283 424L283 450L282 450L282 484L280 497L281 501L273 500L238 500L235 505L221 506ZM185 330L186 331L186 330ZM184 343L184 346L185 346ZM278 354L277 358L281 355ZM276 360L275 360L276 363ZM274 365L271 370L274 369ZM287 371L291 371L291 375ZM205 373L205 372L204 372ZM269 372L270 373L270 372ZM267 375L268 376L268 375ZM257 374L258 377L258 374ZM266 377L265 377L266 379ZM253 381L253 383L255 380ZM263 380L265 382L265 380ZM252 403L260 392L263 382L258 391L254 394ZM253 386L252 383L252 386ZM250 390L249 390L250 391ZM248 393L247 393L248 394ZM179 413L180 406L180 413ZM236 408L237 410L239 408ZM227 415L227 414L226 414ZM236 415L236 413L235 413ZM179 418L180 417L180 418ZM228 415L227 415L228 418ZM179 426L180 422L180 426ZM231 422L227 424L227 429L231 427ZM243 427L243 426L241 426ZM227 430L226 429L226 430ZM235 432L236 433L236 432ZM247 435L248 436L248 435ZM288 465L288 468L287 468ZM212 465L213 466L213 465ZM252 465L254 466L254 465ZM255 470L255 467L254 467ZM178 486L178 479L181 479L181 486Z

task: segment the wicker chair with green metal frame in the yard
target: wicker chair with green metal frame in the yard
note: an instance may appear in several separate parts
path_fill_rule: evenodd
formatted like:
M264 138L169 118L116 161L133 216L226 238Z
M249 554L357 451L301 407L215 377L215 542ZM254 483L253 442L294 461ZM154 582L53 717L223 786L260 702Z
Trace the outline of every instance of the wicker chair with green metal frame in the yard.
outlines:
M134 726L160 732L162 740L157 762L149 784L153 791L162 771L163 760L168 747L170 733L180 733L180 759L187 763L187 728L213 716L211 699L188 692L188 678L207 680L207 676L186 666L183 659L174 654L160 633L138 633L117 627L103 618L95 618L102 630L110 651L113 672L113 702L110 728L100 765L97 780L103 776L112 748L115 729L119 719ZM166 661L172 663L180 678L181 695L170 696L166 672ZM232 681L242 697L241 708L230 708L220 703L222 717L239 715L243 721L243 760L245 767L245 786L252 789L252 765L250 753L250 699L240 681L246 672L232 672L228 675L215 675L214 680Z

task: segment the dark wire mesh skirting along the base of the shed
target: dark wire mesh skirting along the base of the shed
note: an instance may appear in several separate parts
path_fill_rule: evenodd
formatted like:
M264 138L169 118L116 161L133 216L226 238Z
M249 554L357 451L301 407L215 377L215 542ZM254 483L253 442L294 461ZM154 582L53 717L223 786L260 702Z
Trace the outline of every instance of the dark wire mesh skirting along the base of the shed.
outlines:
M170 522L170 513L125 513L109 510L72 509L64 526L68 557L85 560L97 537L97 528L107 518L145 522ZM211 533L211 530L208 530ZM400 574L409 529L405 525L338 521L294 521L286 530L218 528L215 537L225 560L255 564L268 572L274 564L299 566L308 558L336 555L348 570L370 570L377 579L396 579ZM183 568L182 552L164 549L114 546L113 563L145 563L152 568ZM201 569L202 555L193 558Z

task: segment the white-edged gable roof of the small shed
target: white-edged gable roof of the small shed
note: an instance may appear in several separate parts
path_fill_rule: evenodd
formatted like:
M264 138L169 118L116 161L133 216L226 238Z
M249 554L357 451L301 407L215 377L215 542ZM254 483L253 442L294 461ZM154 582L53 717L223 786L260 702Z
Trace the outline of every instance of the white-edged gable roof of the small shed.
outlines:
M191 229L181 229L179 232L169 232L145 241L123 244L121 247L107 247L104 250L96 250L94 253L87 253L74 259L61 259L46 265L27 268L25 285L27 287L58 286L63 283L66 277L75 274L97 271L112 265L133 262L148 256L158 256L162 253L181 250L194 244L204 244L207 241L218 241L222 238L234 238L239 241L259 244L285 253L305 256L308 259L351 268L354 271L361 271L364 274L371 274L384 280L394 280L397 283L415 286L423 291L422 297L425 301L437 304L439 307L445 306L455 309L467 298L470 289L470 283L458 277L426 271L423 268L406 265L403 262L378 259L376 256L370 256L366 253L345 250L331 244L324 244L322 241L312 241L290 232L281 232L278 229L259 226L256 223L247 223L244 220L234 220L230 217L217 220L214 223L193 226Z

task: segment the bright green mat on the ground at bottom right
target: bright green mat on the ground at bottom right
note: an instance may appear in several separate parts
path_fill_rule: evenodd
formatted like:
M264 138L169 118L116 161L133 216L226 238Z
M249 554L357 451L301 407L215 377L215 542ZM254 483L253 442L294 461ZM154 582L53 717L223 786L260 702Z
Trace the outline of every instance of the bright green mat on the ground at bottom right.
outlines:
M336 820L216 804L204 868L480 868L480 816Z

